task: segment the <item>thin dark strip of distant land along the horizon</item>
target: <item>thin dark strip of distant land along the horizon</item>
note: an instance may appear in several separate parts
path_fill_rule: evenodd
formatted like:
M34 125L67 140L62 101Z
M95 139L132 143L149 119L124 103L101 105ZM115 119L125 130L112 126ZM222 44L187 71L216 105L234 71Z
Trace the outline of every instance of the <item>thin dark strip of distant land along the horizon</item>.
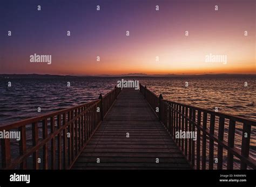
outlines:
M71 78L71 77L255 77L256 74L153 74L142 73L120 74L120 75L49 75L49 74L0 74L0 78Z

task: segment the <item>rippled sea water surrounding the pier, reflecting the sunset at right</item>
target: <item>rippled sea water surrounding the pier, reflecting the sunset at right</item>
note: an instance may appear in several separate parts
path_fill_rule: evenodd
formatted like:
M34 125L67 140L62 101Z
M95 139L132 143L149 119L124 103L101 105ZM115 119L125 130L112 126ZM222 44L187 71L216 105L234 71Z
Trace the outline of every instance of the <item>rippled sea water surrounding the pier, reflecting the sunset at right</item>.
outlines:
M0 124L35 117L97 99L111 91L118 77L2 78L0 79ZM256 78L160 78L139 80L165 99L256 120ZM11 87L7 87L11 82ZM71 86L67 86L70 82ZM188 87L185 87L188 82ZM245 87L245 82L248 87ZM41 107L41 112L37 108ZM218 128L218 127L216 127ZM242 126L238 124L238 131ZM256 130L252 127L251 156L256 157ZM237 144L241 139L237 140ZM235 165L235 168L238 167Z

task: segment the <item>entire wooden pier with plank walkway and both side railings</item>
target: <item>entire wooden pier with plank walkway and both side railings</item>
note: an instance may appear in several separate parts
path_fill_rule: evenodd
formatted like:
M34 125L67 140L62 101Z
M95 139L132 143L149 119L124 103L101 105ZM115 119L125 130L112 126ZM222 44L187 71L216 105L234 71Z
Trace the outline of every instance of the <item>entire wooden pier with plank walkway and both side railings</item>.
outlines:
M242 124L242 133L237 133L237 124ZM1 125L0 131L21 132L16 143L1 140L1 165L2 169L233 169L235 156L239 169L256 169L250 156L255 126L255 120L164 100L143 85L140 90L114 88L84 105ZM180 131L197 132L197 140L176 138ZM234 146L239 135L241 149ZM18 155L12 153L15 145Z

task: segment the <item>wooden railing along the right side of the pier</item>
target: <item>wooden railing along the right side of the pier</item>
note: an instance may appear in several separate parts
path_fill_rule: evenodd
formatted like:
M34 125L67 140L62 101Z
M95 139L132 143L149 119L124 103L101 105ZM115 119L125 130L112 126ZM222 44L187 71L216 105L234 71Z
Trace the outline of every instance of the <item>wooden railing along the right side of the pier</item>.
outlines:
M240 164L235 169L256 169L250 155L255 120L165 100L143 85L140 92L194 169L233 169L234 159ZM196 141L177 132L197 132Z

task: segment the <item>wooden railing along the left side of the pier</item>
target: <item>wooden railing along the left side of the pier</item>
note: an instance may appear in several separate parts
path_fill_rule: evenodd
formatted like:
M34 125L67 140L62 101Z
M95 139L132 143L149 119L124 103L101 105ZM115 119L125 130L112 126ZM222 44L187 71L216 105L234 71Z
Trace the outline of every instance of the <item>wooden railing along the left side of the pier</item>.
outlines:
M17 142L1 140L2 169L70 169L120 91L114 88L83 105L1 125L2 132L21 132Z

